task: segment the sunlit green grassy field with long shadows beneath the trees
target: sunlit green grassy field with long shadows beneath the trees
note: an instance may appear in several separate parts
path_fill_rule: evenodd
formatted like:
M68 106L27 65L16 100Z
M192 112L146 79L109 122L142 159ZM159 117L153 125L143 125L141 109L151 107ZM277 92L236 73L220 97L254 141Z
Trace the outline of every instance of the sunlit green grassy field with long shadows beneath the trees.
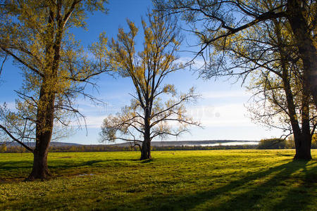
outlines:
M317 158L317 150L312 151ZM22 182L30 153L0 154L0 210L317 210L317 160L292 150L50 153L49 181Z

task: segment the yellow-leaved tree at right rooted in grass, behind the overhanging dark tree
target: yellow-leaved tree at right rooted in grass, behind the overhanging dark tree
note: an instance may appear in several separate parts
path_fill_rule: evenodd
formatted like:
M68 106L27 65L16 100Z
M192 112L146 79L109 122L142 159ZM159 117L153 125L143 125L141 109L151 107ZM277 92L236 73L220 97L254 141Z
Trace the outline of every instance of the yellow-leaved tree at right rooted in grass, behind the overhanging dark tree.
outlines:
M232 58L228 71L235 66L242 70L240 74L252 76L249 82L249 89L254 92L254 101L249 103L252 119L282 129L285 138L293 134L294 158L309 160L317 125L316 108L304 83L303 66L290 25L278 19L249 30L253 33L232 37L225 47Z

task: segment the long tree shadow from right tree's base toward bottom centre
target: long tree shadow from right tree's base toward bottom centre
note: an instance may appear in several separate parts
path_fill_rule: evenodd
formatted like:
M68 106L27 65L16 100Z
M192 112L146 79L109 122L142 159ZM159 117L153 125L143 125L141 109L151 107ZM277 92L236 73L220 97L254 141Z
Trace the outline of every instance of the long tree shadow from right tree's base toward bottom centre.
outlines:
M229 198L223 203L216 207L204 208L206 210L254 210L252 208L256 203L259 202L259 199L263 196L266 196L268 191L271 191L272 186L279 184L278 178L287 178L290 177L290 174L296 172L297 170L303 168L307 162L303 161L291 161L276 167L272 167L269 170L256 172L254 174L250 174L247 177L243 177L242 179L237 179L235 181L230 182L225 186L221 186L219 188L214 188L209 191L199 191L197 193L186 195L186 196L157 196L154 198L142 198L141 200L137 201L136 203L141 203L142 201L147 200L156 200L156 204L160 203L159 207L156 207L158 210L190 210L195 208L199 205L206 203L209 200L216 198L217 196L224 195L226 193L230 194L230 191L237 191L240 188L255 179L260 179L262 177L266 177L270 174L276 173L275 176L271 179L268 179L265 183L261 184L260 186L255 186L251 188L251 190L247 190L247 192L238 193L238 196L234 198ZM261 193L259 193L259 188L261 188ZM184 193L186 194L186 193ZM171 203L169 200L173 200ZM242 205L239 203L248 202L247 205ZM241 205L241 208L239 207ZM243 209L242 207L247 207L247 209ZM238 208L238 209L237 209ZM199 207L199 210L203 208Z

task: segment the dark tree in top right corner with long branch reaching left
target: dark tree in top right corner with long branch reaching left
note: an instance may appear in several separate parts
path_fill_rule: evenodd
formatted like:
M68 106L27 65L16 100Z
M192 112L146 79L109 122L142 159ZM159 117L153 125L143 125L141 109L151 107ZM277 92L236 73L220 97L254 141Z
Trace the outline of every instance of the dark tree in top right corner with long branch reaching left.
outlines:
M187 29L197 34L201 45L197 55L208 53L211 44L218 39L230 39L232 34L243 34L249 27L285 18L303 65L304 83L317 108L316 1L154 0L154 3L159 11L180 14L190 27ZM212 69L219 66L211 64L206 68L202 73L209 77Z

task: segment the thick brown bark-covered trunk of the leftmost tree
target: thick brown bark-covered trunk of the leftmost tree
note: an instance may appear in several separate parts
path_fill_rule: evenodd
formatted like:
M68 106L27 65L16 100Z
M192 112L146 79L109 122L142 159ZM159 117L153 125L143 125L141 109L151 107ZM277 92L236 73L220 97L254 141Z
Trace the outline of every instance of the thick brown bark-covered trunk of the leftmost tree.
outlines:
M53 17L53 12L50 11L49 23ZM59 17L61 18L61 17ZM58 20L61 23L61 20ZM54 40L54 27L49 25L48 33L51 34L51 38ZM49 143L51 142L51 136L53 134L54 127L54 103L56 97L56 90L54 83L57 82L58 68L61 59L61 40L63 37L63 25L58 25L56 31L55 41L49 44L46 48L46 57L53 60L48 63L47 69L51 72L46 72L42 79L42 87L39 92L39 103L37 105L37 124L36 124L36 146L33 160L32 172L27 180L32 181L35 179L49 179L51 174L47 167L47 153L49 151Z

